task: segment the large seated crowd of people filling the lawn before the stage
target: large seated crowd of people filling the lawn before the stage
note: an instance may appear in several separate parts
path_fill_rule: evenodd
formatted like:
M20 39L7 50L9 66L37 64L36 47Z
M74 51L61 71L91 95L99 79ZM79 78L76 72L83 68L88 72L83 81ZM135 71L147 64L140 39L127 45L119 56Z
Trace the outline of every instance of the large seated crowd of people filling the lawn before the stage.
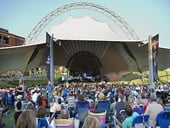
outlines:
M96 117L87 115L86 119L81 121L77 103L86 101L88 111L97 112L99 101L105 100L109 101L106 123L110 119L107 116L112 113L114 126L116 124L117 127L131 128L136 116L149 114L148 124L156 127L156 117L164 110L165 103L168 103L163 101L165 98L162 99L161 93L167 92L168 95L169 87L168 83L149 88L147 85L104 82L52 85L50 81L44 86L35 84L27 87L23 80L20 80L15 89L0 90L0 125L4 126L4 111L7 111L9 106L14 106L16 128L54 128L58 122L68 120L74 128L99 128L100 121ZM126 112L124 118L120 113L122 110Z

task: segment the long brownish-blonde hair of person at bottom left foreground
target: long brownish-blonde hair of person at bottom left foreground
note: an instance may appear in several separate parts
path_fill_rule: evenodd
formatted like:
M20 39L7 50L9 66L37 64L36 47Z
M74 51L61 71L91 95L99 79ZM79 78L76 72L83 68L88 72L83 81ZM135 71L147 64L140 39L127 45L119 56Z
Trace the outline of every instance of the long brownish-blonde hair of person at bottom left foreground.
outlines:
M16 128L36 128L34 112L30 109L23 111L17 120Z

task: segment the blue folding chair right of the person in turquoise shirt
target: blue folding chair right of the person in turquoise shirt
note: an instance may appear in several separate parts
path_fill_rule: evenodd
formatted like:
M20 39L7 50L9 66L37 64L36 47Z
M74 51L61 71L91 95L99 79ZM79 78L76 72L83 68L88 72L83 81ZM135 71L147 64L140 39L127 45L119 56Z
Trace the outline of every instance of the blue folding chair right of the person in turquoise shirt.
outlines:
M132 128L140 127L140 128L149 128L148 125L149 115L139 115L134 118L132 122Z

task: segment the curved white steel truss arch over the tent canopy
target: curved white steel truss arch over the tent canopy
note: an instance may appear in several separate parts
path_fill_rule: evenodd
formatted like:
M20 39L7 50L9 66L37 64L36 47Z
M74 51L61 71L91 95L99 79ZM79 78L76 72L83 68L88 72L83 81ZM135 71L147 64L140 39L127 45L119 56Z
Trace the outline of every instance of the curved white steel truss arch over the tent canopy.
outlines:
M52 21L55 17L59 16L60 14L64 12L68 12L75 9L90 9L97 12L100 12L101 14L107 16L109 19L114 21L119 28L122 30L122 32L126 35L128 39L139 39L137 34L134 32L134 30L128 25L128 23L123 20L119 15L117 15L112 10L109 10L101 5L97 5L94 3L87 3L87 2L77 2L77 3L70 3L66 4L62 7L57 8L56 10L50 12L48 15L46 15L31 31L31 33L28 35L26 42L31 43L37 39L41 31L44 29L44 27Z

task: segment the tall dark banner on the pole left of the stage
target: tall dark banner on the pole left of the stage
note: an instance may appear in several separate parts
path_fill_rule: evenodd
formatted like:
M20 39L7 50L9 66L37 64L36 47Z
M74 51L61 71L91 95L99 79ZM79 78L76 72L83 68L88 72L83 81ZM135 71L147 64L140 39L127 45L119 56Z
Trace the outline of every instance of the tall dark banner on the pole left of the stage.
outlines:
M47 80L50 81L50 40L51 36L46 32L46 73Z

